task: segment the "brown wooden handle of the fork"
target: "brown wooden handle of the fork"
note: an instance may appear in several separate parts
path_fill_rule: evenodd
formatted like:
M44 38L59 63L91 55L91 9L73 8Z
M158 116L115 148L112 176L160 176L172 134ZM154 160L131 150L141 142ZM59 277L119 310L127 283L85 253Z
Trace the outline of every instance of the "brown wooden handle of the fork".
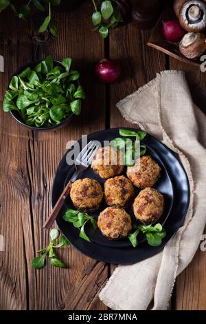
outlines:
M54 223L56 217L58 216L60 210L62 209L62 206L65 203L65 199L67 198L70 190L71 190L71 185L72 185L72 181L69 181L64 189L64 191L62 192L62 194L60 195L58 201L56 202L53 210L52 210L52 214L49 216L49 218L47 219L47 221L45 221L43 228L46 228L47 230L50 230L50 228L52 227L52 224Z

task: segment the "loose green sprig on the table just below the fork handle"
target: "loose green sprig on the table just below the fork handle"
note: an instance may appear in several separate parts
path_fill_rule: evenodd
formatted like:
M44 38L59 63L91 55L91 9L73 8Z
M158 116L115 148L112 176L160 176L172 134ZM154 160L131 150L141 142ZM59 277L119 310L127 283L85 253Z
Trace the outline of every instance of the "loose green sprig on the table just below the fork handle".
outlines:
M65 263L62 263L62 261L60 261L56 257L56 254L54 253L54 249L57 249L58 247L62 247L64 245L69 246L70 245L69 241L65 239L65 236L60 235L60 232L55 228L51 230L50 238L51 238L50 244L47 245L47 247L37 251L37 253L41 255L36 256L36 258L34 258L31 261L31 265L34 269L41 269L42 267L45 266L46 256L49 256L51 265L55 265L56 267L66 267ZM59 242L57 243L58 238L59 238Z

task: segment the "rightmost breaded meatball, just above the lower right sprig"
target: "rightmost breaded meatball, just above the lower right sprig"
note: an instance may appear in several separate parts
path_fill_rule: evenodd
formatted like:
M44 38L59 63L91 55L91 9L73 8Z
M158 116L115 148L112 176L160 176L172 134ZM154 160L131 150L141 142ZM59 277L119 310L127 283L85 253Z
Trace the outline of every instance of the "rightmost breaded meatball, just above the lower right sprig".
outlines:
M145 188L139 192L133 203L135 217L144 224L158 221L163 214L164 199L154 188Z

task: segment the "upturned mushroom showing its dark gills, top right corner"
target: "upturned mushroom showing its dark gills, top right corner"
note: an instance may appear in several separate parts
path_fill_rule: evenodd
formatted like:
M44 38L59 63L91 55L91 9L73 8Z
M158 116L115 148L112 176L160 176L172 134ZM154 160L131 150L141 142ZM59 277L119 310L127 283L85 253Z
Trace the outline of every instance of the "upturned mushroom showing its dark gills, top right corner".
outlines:
M206 4L193 0L183 3L179 11L179 23L187 32L202 32L206 29Z

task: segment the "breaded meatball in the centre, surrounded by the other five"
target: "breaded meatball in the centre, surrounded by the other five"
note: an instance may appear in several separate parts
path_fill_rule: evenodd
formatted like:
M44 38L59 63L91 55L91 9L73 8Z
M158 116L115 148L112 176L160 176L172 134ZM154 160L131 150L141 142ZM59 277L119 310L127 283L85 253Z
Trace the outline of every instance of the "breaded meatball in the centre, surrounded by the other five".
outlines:
M109 206L125 207L134 194L133 183L126 176L115 176L104 183L104 198Z

